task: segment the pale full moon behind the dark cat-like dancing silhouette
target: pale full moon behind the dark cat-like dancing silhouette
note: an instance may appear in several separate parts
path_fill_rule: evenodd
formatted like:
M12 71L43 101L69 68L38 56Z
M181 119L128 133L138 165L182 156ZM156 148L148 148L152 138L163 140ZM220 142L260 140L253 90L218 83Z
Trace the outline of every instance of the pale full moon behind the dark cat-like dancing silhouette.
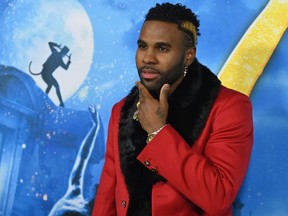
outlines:
M32 71L39 73L51 54L48 42L67 46L71 54L70 67L57 68L53 76L64 101L78 90L89 72L94 50L92 25L82 5L76 0L13 1L0 22L1 64L31 75L28 67L32 61ZM41 76L31 76L45 92L47 84ZM59 104L54 87L48 96Z

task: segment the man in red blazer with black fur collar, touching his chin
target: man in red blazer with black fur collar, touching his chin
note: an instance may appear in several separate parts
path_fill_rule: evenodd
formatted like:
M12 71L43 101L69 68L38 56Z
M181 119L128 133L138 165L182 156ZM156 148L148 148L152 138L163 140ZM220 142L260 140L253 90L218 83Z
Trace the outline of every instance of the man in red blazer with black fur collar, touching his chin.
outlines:
M97 215L232 215L253 143L251 103L196 56L196 15L157 4L138 39L140 82L112 110Z

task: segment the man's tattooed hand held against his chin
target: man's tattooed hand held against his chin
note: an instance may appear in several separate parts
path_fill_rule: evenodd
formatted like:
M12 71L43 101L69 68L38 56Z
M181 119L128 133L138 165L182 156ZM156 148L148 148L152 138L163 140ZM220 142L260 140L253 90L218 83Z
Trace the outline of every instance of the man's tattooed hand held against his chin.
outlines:
M169 84L164 84L160 91L159 101L154 99L140 82L136 82L139 89L137 117L142 128L147 133L157 131L166 124L168 116Z

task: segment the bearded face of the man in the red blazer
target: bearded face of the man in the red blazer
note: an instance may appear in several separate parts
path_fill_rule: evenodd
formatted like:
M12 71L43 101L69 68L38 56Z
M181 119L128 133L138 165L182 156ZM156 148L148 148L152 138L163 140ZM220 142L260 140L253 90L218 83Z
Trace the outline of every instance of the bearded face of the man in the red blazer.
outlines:
M146 21L143 24L136 64L141 82L149 91L159 92L168 83L171 92L183 80L187 58L183 34L174 23Z

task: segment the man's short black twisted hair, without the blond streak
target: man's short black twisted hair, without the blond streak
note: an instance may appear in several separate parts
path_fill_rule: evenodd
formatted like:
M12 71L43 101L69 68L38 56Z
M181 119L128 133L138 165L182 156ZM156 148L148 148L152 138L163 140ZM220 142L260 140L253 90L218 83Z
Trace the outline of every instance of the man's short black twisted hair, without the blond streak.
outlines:
M190 36L190 38L185 37L187 46L195 46L197 44L197 36L200 36L200 22L197 15L186 6L181 5L180 3L157 3L155 7L150 8L145 16L145 22L153 20L177 24L180 31L183 31ZM187 21L193 24L195 30L194 34L182 27L183 22Z

